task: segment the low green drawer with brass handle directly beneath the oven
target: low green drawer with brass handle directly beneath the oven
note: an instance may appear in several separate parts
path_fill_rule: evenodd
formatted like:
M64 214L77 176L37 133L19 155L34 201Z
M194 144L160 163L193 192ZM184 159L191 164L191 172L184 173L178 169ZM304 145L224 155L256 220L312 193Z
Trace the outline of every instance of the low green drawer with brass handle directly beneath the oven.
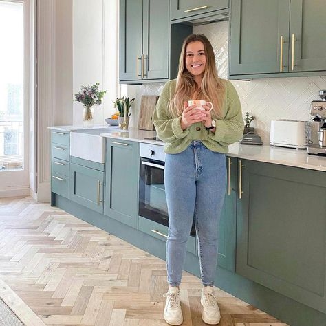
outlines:
M151 221L150 219L145 219L140 216L138 219L138 230L147 233L157 239L166 241L168 235L168 227L162 224ZM187 242L187 251L195 254L195 237L189 237Z

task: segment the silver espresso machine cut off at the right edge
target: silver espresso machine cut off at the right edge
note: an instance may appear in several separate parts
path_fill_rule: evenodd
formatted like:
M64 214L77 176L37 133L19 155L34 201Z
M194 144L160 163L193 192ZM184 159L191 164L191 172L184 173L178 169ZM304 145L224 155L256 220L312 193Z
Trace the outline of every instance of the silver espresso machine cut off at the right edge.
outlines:
M321 100L313 100L310 114L314 122L318 122L318 144L307 147L310 155L326 156L326 89L318 91Z

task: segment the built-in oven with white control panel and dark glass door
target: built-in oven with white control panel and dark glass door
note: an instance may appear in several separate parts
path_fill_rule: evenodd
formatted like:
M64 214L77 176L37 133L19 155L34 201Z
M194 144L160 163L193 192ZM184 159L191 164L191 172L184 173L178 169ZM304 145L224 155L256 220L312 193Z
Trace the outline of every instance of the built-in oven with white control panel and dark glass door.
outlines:
M164 146L140 143L139 215L169 226L164 187ZM195 237L195 224L191 228Z

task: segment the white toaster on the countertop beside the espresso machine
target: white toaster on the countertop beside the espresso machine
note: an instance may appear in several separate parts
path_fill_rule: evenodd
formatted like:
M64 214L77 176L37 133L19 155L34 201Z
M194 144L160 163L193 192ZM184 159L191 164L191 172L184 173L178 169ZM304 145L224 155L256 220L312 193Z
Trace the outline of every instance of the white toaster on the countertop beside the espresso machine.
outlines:
M301 120L272 120L270 144L272 146L305 149L308 145L309 122Z

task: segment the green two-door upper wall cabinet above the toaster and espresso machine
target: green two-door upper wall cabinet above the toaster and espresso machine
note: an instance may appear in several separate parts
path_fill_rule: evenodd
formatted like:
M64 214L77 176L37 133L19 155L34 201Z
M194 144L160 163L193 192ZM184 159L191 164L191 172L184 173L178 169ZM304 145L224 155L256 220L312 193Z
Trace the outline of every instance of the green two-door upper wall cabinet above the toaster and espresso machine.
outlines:
M326 71L323 0L232 0L230 78Z

